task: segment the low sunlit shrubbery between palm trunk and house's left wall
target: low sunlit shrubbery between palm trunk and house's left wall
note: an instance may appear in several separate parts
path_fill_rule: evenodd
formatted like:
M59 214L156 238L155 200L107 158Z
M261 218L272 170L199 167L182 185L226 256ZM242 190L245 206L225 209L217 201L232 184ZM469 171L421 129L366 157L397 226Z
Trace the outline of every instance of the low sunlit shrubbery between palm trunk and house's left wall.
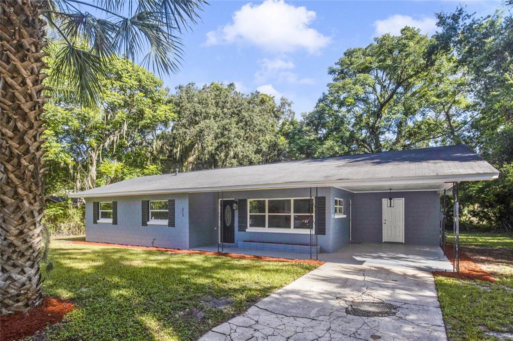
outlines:
M52 236L85 235L85 207L73 206L71 200L49 203L43 222Z

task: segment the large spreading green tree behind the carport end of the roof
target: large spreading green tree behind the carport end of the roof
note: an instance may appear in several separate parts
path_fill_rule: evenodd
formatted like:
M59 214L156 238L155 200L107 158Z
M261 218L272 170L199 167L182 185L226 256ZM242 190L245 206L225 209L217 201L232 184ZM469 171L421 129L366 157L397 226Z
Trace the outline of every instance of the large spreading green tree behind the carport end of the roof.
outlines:
M291 155L321 157L460 142L469 123L469 84L450 53L405 27L329 68L333 81L315 109L290 123Z

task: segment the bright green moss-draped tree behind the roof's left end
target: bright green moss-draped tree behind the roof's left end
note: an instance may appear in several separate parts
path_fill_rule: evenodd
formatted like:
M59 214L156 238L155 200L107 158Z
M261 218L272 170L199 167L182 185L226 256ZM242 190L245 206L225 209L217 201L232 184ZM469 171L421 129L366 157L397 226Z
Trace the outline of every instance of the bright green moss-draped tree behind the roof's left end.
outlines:
M112 57L108 68L100 108L81 107L66 96L55 96L58 100L45 107L47 193L162 171L156 138L175 117L169 90L161 79L128 60Z

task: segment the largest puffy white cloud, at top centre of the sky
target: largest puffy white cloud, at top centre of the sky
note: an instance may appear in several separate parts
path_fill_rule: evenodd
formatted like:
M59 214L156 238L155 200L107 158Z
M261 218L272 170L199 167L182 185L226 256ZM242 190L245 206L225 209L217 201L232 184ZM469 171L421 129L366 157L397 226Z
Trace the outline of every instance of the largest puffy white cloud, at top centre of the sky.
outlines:
M317 13L306 7L286 4L284 0L248 3L232 15L232 23L207 33L205 45L245 42L273 52L305 49L317 53L330 38L309 25Z

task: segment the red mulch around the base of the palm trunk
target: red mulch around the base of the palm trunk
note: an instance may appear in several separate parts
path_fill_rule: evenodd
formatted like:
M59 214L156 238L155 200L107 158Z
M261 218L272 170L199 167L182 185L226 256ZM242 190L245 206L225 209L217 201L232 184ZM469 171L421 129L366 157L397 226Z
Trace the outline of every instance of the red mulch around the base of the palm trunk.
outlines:
M63 301L55 297L45 297L43 302L35 308L0 317L0 325L2 326L0 340L11 341L34 335L46 326L60 322L64 315L73 308L73 304L69 301Z

